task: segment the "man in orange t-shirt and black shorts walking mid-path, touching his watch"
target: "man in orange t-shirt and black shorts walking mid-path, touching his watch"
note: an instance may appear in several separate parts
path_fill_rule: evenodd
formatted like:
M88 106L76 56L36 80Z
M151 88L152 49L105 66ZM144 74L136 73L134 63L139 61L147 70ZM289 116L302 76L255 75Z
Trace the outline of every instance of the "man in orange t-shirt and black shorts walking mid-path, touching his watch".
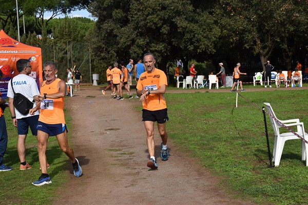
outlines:
M146 72L140 75L137 84L137 95L142 100L142 121L147 133L147 148L150 160L147 167L157 169L158 165L155 159L155 142L154 142L154 122L157 121L159 134L162 138L161 158L168 160L167 151L167 132L166 120L168 120L167 106L164 93L167 86L166 74L155 68L155 56L153 53L146 53L143 56Z

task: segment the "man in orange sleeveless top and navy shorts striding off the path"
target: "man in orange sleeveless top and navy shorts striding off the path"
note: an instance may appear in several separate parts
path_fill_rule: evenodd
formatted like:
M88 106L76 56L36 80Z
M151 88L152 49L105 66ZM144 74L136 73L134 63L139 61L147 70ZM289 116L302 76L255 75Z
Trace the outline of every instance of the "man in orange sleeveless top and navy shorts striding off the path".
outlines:
M52 61L47 61L44 64L43 72L46 80L41 83L41 94L35 97L35 101L41 101L41 105L36 106L29 112L33 114L38 109L41 109L37 123L37 151L42 175L38 177L38 180L32 182L34 186L51 183L50 176L47 173L45 155L49 136L56 137L61 150L72 161L74 175L80 177L82 174L79 161L75 158L74 151L67 142L67 128L64 117L65 81L55 76L57 69Z

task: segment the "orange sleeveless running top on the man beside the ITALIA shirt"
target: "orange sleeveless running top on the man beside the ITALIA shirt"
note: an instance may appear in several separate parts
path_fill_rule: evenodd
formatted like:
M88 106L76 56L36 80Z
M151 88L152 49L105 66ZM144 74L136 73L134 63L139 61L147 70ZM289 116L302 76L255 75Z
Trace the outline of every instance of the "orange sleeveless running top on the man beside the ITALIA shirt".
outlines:
M56 78L51 84L46 84L46 80L43 81L41 87L41 95L44 93L53 94L59 92L57 85L61 79ZM38 121L46 124L65 124L64 118L64 97L58 99L47 98L41 101L41 114Z

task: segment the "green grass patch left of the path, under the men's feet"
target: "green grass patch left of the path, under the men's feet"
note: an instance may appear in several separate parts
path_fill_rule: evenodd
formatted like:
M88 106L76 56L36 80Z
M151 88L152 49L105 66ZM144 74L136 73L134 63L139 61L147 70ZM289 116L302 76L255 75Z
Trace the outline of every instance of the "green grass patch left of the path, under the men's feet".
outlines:
M26 160L32 169L20 171L16 143L17 129L12 125L11 115L7 108L4 113L8 131L8 146L4 157L4 164L13 167L12 171L0 172L0 204L50 204L56 197L56 189L63 186L67 180L65 170L69 163L68 157L62 152L56 138L49 137L47 146L47 160L50 164L48 172L52 180L52 186L35 187L32 182L41 175L40 162L38 162L36 138L31 131L26 139ZM70 130L71 118L66 115L66 124ZM70 137L70 132L68 132Z

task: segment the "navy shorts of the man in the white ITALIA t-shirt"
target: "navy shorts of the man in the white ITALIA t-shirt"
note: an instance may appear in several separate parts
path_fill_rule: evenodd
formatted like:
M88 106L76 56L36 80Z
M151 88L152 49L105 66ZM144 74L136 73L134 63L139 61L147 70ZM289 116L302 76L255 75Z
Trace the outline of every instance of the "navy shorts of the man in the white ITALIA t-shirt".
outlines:
M26 135L29 131L29 126L33 136L37 135L37 120L40 115L33 115L17 119L17 133L18 135Z

